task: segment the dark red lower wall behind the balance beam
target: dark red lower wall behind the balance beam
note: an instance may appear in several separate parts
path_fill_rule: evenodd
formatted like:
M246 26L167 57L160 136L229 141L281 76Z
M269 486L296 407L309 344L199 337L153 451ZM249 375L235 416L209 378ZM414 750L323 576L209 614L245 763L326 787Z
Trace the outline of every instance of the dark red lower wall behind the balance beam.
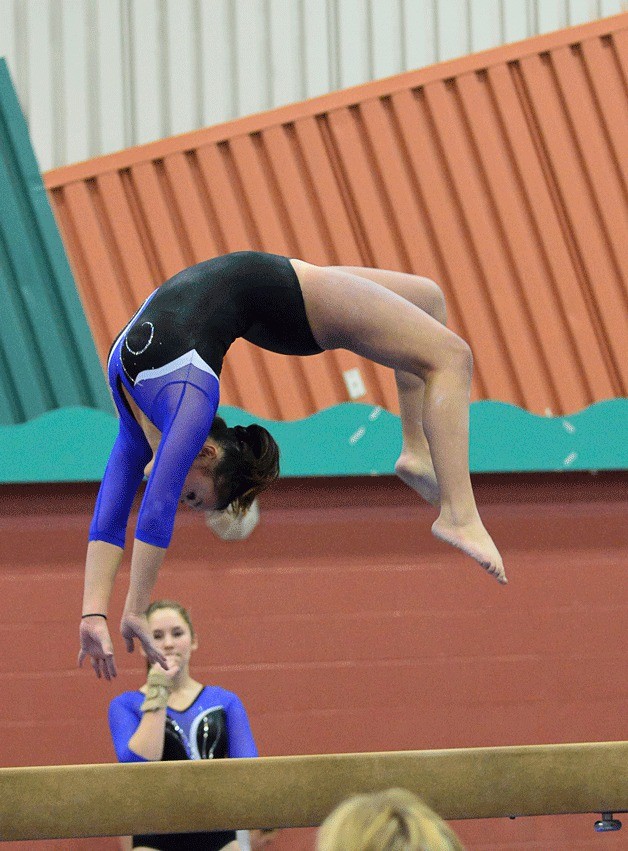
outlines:
M157 593L190 607L193 673L241 695L262 754L628 738L626 477L475 487L506 588L436 541L432 509L392 478L285 480L243 543L181 514ZM112 761L108 702L142 681L115 634L127 567L110 618L120 675L76 669L94 497L92 485L0 489L2 765ZM619 849L628 825L599 836L594 820L455 826L473 849ZM312 833L274 847L311 849Z

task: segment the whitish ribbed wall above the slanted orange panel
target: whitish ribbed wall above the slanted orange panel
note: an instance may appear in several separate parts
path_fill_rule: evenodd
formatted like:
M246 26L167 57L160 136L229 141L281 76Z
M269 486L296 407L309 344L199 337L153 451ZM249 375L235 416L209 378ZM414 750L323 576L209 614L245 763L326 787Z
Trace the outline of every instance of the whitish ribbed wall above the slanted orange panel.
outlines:
M42 169L615 15L622 0L0 0Z

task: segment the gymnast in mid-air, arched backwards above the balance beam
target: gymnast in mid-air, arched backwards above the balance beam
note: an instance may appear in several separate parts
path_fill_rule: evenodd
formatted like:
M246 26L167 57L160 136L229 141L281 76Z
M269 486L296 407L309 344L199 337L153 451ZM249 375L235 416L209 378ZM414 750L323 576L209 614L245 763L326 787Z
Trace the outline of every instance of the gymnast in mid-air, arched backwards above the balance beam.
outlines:
M246 511L279 474L266 429L227 428L216 417L223 358L238 337L288 355L349 349L394 369L402 429L395 472L439 509L434 535L505 584L469 476L473 357L445 321L443 294L427 278L257 251L198 263L156 289L109 354L120 422L90 527L79 663L90 656L97 676L116 674L107 607L145 474L121 631L129 651L138 639L149 662L164 665L143 612L178 504Z

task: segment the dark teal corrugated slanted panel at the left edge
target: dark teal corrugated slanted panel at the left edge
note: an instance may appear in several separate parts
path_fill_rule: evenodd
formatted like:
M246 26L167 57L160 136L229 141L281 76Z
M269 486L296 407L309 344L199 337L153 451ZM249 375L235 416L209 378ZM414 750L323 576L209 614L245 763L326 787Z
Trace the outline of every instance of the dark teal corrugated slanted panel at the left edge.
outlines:
M113 406L6 62L0 59L0 425Z

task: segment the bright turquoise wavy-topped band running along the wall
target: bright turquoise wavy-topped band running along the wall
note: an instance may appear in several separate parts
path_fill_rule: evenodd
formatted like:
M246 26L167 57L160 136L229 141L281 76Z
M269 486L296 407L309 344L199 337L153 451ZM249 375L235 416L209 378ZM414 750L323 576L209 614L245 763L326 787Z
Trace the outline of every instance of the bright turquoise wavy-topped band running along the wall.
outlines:
M223 407L229 425L258 422L281 447L284 476L368 476L393 472L399 418L347 402L294 422ZM97 481L116 419L91 408L49 411L0 427L0 483ZM471 405L474 473L628 469L628 399L598 402L566 417L539 417L503 402Z

